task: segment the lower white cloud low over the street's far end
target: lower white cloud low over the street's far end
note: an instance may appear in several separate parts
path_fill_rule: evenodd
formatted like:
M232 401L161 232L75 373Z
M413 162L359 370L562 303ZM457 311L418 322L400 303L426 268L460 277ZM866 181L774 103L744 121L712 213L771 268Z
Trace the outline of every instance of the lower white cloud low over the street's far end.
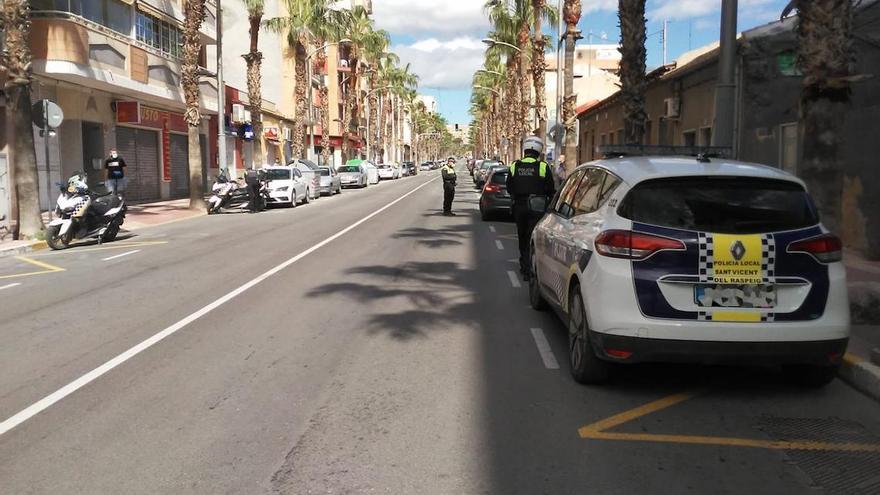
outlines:
M392 48L401 64L411 64L419 75L419 86L433 89L469 88L474 71L483 64L485 46L476 38L452 40L428 38L412 45Z

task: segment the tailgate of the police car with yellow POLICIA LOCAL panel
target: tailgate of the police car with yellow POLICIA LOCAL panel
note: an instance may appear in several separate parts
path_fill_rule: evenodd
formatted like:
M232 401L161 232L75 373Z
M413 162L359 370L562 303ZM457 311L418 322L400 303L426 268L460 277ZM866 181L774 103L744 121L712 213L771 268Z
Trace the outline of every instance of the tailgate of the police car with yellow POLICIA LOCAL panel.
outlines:
M636 185L620 212L634 233L685 246L632 262L636 298L650 318L808 321L824 313L828 263L800 247L824 232L795 182L654 180Z

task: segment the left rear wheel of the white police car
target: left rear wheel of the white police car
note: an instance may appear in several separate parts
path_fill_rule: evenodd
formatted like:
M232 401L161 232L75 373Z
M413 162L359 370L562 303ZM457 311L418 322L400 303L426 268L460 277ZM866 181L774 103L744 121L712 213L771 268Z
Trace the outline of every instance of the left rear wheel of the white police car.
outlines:
M593 352L589 325L580 286L571 289L568 306L568 362L571 376L578 383L602 383L608 380L610 364Z

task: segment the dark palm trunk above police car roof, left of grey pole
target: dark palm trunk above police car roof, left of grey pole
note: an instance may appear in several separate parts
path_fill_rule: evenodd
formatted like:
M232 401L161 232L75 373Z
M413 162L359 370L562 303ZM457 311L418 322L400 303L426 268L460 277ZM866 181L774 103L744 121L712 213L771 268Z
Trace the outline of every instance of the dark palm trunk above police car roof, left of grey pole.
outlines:
M623 136L627 144L641 144L648 118L645 113L645 0L620 0L617 16L620 20Z

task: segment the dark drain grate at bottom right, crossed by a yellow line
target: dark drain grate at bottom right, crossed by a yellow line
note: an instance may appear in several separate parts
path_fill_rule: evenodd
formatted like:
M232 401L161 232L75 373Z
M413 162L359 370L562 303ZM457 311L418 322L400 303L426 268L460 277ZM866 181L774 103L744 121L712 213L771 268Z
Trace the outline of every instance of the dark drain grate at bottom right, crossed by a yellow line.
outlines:
M759 418L757 428L773 440L880 444L864 426L838 418ZM834 450L786 450L813 482L829 494L880 494L880 454Z

